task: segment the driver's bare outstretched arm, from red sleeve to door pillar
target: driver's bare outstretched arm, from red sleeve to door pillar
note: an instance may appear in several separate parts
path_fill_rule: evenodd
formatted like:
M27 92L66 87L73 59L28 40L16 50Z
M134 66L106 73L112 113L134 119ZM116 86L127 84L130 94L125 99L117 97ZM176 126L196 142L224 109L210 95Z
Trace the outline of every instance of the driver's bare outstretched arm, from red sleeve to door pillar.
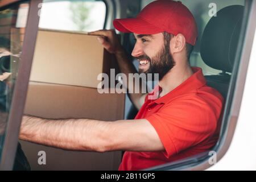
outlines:
M146 119L114 122L92 119L53 120L24 116L20 139L67 150L163 151L154 127Z

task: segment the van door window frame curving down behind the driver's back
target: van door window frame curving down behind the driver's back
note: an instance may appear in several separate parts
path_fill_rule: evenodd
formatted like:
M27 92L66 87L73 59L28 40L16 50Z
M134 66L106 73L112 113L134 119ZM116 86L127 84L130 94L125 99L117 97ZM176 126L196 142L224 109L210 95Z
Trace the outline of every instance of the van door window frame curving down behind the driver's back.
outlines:
M246 73L250 60L250 52L253 46L256 22L253 17L256 16L256 1L245 1L245 11L243 14L242 28L240 40L238 43L238 51L234 61L232 77L230 80L228 95L222 118L220 138L217 144L212 148L217 154L217 162L228 151L234 131L236 130L237 119L240 113L240 107L245 86ZM243 61L241 61L243 60ZM145 170L162 171L162 170L205 170L212 165L209 164L210 156L208 152L191 156L176 162L167 163L161 166L147 168Z

